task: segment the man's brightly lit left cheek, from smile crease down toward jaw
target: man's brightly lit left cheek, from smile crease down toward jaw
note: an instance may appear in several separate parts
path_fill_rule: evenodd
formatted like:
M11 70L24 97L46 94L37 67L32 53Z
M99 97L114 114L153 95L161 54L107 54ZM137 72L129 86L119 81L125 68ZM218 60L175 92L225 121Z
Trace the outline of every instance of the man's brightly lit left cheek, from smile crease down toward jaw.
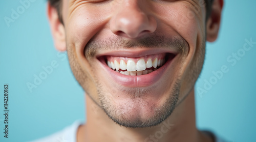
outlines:
M72 11L72 12L71 12ZM72 54L73 73L82 88L89 94L97 94L92 65L84 56L84 47L108 21L108 13L102 13L85 5L69 9L65 16L65 30L68 50ZM88 83L89 82L89 83Z

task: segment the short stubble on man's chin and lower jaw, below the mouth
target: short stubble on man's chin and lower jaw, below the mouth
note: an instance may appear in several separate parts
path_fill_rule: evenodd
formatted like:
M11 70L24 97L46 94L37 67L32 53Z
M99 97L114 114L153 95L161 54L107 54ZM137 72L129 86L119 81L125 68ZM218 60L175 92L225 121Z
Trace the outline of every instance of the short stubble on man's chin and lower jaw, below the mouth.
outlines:
M145 128L160 124L173 112L179 98L180 83L179 80L177 80L172 91L169 92L168 98L160 106L155 106L144 99L147 94L151 93L152 88L126 90L122 95L126 95L131 101L118 103L117 105L110 98L118 94L106 93L107 91L104 90L102 84L98 81L96 82L101 108L111 120L124 127ZM145 108L147 112L153 111L154 115L144 118L139 113L134 113L134 110L136 111L143 108Z

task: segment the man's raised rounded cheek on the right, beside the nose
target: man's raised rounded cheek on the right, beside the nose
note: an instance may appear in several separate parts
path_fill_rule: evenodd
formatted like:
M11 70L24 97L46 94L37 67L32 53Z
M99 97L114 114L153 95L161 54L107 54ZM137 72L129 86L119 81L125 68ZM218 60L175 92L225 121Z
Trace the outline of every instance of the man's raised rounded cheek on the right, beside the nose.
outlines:
M161 31L167 30L170 35L177 34L183 37L190 47L195 47L198 44L197 40L202 38L204 8L178 1L154 6L154 11Z

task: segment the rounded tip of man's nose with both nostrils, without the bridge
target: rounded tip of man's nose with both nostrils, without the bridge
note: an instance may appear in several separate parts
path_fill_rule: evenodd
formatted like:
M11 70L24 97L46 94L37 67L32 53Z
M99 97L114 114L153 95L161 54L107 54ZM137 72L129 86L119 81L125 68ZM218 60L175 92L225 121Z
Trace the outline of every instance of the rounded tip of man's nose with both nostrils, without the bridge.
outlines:
M128 37L138 38L155 32L157 22L153 16L142 12L138 7L125 7L111 19L112 33Z

